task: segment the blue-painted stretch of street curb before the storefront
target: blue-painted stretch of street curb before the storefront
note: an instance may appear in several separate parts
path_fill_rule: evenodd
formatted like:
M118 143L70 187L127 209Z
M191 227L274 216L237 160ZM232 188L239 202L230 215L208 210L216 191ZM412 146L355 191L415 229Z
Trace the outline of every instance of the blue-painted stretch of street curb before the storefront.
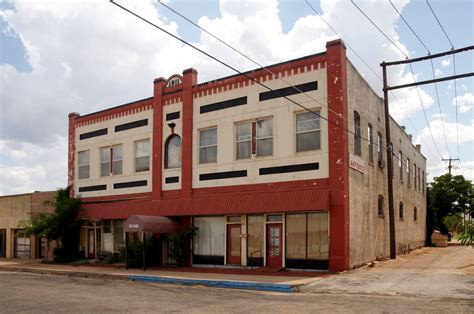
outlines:
M247 281L229 281L229 280L207 280L207 279L187 279L175 277L160 277L160 276L143 276L143 275L129 275L128 279L131 281L140 282L158 282L168 284L180 285L200 285L206 287L217 288L231 288L231 289L245 289L245 290L259 290L259 291L273 291L273 292L296 292L295 287L288 284L277 283L259 283Z

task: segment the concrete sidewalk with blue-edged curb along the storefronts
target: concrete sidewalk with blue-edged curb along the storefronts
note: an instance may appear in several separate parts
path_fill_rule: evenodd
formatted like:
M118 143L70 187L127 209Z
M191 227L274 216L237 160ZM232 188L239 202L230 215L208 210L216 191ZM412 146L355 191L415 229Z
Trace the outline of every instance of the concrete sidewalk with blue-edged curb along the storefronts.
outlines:
M87 278L105 278L142 282L203 285L211 287L250 289L276 292L297 292L298 287L328 276L325 272L262 273L241 269L188 268L126 270L116 265L43 264L39 260L0 259L0 271L30 272Z

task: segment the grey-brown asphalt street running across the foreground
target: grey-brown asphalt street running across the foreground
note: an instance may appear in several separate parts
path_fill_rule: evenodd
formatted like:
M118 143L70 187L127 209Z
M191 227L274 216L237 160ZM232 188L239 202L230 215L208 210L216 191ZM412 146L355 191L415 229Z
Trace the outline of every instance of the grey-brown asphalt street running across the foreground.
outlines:
M449 297L284 294L0 272L1 313L468 313L472 311L473 307L473 299Z

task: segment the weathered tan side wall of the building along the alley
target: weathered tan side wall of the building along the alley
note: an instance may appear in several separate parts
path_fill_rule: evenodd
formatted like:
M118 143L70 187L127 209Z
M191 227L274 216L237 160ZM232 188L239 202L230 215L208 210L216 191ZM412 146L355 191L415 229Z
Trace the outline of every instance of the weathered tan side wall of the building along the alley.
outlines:
M356 136L349 134L349 158L355 167L350 169L350 266L385 258L390 255L388 188L386 166L386 144L384 127L383 100L378 97L354 66L348 61L349 86L349 130L355 132L356 115L360 123L360 150L356 148ZM356 114L357 113L357 114ZM372 136L369 135L369 125ZM423 246L425 237L426 202L424 189L426 159L396 122L391 119L391 138L394 162L394 209L397 253ZM382 146L378 147L377 136L380 133ZM370 144L372 143L372 144ZM372 148L370 148L372 146ZM382 152L379 163L378 151ZM372 151L370 153L370 151ZM402 161L399 161L399 152ZM372 158L370 158L372 154ZM414 171L407 172L409 158L410 169L416 164L417 182L420 187L414 189ZM400 179L399 163L404 179ZM358 170L356 170L356 168ZM418 172L420 175L418 177ZM408 185L407 176L411 178ZM418 183L417 183L418 186ZM400 216L399 205L403 204ZM414 208L417 208L415 220ZM401 218L400 218L401 217Z

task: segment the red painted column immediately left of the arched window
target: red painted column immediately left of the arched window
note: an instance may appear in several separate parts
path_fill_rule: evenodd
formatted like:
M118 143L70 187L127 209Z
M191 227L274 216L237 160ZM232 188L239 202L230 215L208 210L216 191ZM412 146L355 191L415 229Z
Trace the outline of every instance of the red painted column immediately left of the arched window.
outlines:
M163 176L163 89L166 80L162 77L153 82L153 170L152 200L161 199Z

